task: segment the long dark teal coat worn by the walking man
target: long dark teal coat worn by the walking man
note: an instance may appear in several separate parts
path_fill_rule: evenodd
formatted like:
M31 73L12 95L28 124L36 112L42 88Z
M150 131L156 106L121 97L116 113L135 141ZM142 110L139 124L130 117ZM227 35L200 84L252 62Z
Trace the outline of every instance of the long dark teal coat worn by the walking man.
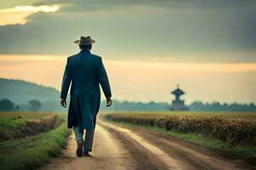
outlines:
M67 98L70 84L67 127L95 128L96 115L101 104L100 84L105 97L111 97L102 58L90 54L88 50L81 50L79 54L68 57L62 79L61 99Z

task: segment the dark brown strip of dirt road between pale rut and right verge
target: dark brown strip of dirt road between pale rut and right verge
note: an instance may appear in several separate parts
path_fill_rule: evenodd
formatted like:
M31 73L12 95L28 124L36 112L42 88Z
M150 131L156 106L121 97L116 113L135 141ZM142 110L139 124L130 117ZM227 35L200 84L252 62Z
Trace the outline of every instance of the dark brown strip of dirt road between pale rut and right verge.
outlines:
M238 167L241 162L230 161L220 156L213 156L204 150L195 149L191 144L184 144L182 141L163 138L155 133L148 133L146 130L137 130L137 133L144 139L150 140L152 144L158 146L161 150L166 150L168 155L175 156L177 160L189 164L194 169L202 170L236 170L247 169L246 167ZM237 165L238 164L238 165Z

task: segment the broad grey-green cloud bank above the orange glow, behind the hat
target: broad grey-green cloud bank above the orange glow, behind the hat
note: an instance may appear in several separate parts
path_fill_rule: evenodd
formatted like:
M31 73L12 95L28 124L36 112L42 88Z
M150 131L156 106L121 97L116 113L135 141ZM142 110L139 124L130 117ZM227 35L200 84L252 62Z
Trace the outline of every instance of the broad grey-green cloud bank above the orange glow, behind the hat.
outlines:
M224 58L221 55L215 59L207 56L207 54L229 54L234 51L256 53L254 31L256 23L253 20L255 6L246 4L252 1L242 1L242 7L238 1L232 1L233 8L217 8L222 5L212 5L212 10L188 7L182 10L179 8L178 10L128 8L129 4L147 2L153 4L152 2L158 1L129 1L130 3L119 1L117 3L114 0L95 0L79 3L79 1L55 0L50 2L73 2L73 12L69 12L68 10L71 9L68 8L71 6L67 6L65 10L56 13L33 14L28 18L29 22L25 26L0 26L1 54L73 54L77 50L73 41L80 35L91 35L96 38L96 51L108 54L110 57L112 55L119 58L129 55L132 58L139 55L162 57L172 54L184 56L206 54L198 59L189 59L256 61L256 56L251 55L227 55ZM167 1L159 2L167 3ZM102 4L108 5L109 8L126 5L125 7L129 10L99 10L87 13L85 8L89 7L85 5L90 3L94 5L98 3L96 7L99 9ZM82 8L84 12L81 11ZM181 60L185 59L188 58L184 57Z

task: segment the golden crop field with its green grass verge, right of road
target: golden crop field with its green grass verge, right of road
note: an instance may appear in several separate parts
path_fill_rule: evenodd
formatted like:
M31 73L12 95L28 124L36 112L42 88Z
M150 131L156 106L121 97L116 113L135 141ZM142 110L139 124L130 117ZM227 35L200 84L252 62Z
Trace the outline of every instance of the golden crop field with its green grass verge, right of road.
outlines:
M256 113L242 112L122 112L107 120L147 128L237 156L256 158Z

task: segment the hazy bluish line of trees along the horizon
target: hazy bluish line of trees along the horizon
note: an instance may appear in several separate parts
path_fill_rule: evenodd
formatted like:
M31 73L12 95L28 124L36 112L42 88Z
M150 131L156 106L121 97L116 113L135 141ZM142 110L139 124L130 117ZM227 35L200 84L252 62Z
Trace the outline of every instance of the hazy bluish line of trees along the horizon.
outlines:
M67 101L67 103L69 103ZM130 102L114 100L112 107L105 107L106 103L102 101L102 111L168 111L171 104L160 102ZM256 105L250 104L220 104L219 102L203 103L195 101L186 105L189 111L256 111ZM0 111L67 111L61 107L57 100L41 103L38 99L32 99L26 105L15 105L9 99L0 100Z

